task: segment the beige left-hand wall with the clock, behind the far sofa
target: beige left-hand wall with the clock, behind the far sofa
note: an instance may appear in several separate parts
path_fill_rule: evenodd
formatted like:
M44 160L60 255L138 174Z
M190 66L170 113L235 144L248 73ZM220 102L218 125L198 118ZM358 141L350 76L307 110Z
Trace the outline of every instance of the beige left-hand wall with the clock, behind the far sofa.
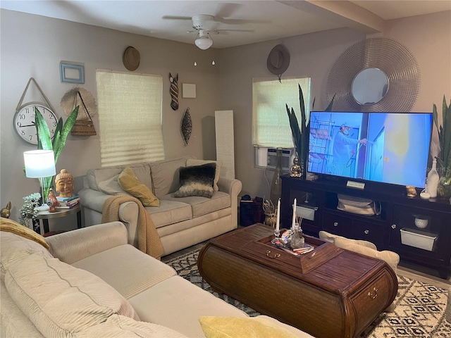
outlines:
M18 220L23 196L39 191L39 182L23 175L23 151L37 149L23 142L13 130L13 116L25 85L34 77L44 94L66 120L60 101L74 84L61 83L60 61L85 64L85 84L80 84L94 97L96 68L128 71L122 63L127 46L140 51L137 73L163 76L163 137L166 157L192 155L215 158L214 111L218 109L218 67L211 65L218 51L202 51L194 44L182 44L142 35L108 30L100 27L44 18L38 15L1 10L1 199L4 207L11 201L11 218ZM194 61L197 66L194 67ZM178 111L170 107L168 74L179 73ZM182 99L181 85L197 85L197 99ZM35 86L27 91L25 102L44 101ZM180 135L180 120L190 107L192 134L184 146ZM123 113L127 114L127 111ZM97 115L94 125L98 128ZM211 146L213 144L213 146ZM89 168L100 167L99 136L73 137L69 135L56 170L66 168L72 175L81 176ZM60 218L55 223L75 225L75 216ZM50 224L52 225L52 223ZM65 224L61 225L66 227ZM67 227L66 227L67 228ZM52 230L52 226L51 226Z

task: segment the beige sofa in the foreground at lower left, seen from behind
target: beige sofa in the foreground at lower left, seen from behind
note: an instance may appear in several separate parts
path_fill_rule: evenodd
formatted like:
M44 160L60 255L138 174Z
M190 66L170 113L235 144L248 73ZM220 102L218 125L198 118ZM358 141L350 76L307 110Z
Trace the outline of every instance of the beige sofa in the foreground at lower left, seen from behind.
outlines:
M234 323L227 337L311 337L187 282L128 244L120 222L47 237L49 250L6 231L0 241L1 337L213 337Z

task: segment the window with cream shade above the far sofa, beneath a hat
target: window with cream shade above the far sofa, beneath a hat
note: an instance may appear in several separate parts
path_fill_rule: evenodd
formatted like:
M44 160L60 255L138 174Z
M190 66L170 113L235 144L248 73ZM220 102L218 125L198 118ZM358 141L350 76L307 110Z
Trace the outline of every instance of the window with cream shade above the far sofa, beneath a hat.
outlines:
M101 166L164 158L161 75L97 70Z

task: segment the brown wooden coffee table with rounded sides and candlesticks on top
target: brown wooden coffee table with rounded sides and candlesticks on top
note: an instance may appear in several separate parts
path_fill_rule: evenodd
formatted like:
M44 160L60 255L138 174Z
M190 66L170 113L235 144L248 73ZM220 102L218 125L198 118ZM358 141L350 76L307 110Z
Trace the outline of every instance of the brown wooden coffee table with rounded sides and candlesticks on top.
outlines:
M395 299L387 263L309 236L315 249L293 256L273 237L259 223L216 237L199 272L216 292L319 338L357 337Z

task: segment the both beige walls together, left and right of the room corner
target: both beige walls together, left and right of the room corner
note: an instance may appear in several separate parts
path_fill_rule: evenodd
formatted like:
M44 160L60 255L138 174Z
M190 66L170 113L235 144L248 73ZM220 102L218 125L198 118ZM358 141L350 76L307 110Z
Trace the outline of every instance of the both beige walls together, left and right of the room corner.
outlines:
M273 77L266 68L266 57L276 44L290 51L290 67L284 76L311 76L312 96L316 107L325 108L322 96L328 72L345 49L364 39L350 29L330 30L298 37L249 44L230 49L201 51L193 44L180 44L141 35L107 30L63 20L1 10L1 195L0 206L13 204L11 218L18 219L22 197L39 190L37 180L23 173L23 151L35 149L13 131L12 120L25 84L35 77L61 116L59 102L73 84L61 83L60 61L85 63L85 84L80 85L96 96L95 69L126 71L123 50L135 46L141 53L137 72L163 75L163 134L166 157L185 154L214 158L214 111L234 111L235 173L242 180L242 194L269 196L268 182L272 172L254 168L251 138L252 77ZM412 111L431 111L441 103L443 94L451 93L451 20L450 12L391 20L384 37L407 46L419 62L421 90ZM216 66L211 65L212 60ZM193 63L197 61L198 66ZM183 82L197 85L197 99L181 99L178 111L172 111L168 73L179 73ZM30 91L25 101L42 101ZM188 146L180 136L180 118L190 106L193 132ZM296 107L295 107L296 108ZM126 112L125 112L126 113ZM63 116L66 119L66 116ZM94 123L97 127L97 117ZM97 128L98 130L98 128ZM68 137L57 170L66 168L75 176L89 168L99 167L99 138ZM267 177L267 178L265 178ZM68 228L73 219L51 223L51 230Z

